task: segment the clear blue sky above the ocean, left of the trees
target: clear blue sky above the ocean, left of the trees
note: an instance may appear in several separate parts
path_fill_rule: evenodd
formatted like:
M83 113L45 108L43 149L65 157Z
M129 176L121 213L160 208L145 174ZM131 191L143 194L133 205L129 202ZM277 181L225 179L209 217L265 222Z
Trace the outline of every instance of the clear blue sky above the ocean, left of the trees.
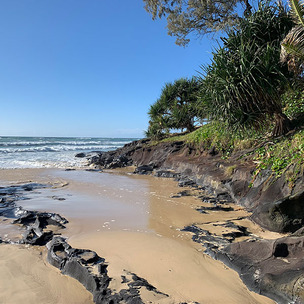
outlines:
M209 62L140 0L3 0L0 136L142 137L165 82Z

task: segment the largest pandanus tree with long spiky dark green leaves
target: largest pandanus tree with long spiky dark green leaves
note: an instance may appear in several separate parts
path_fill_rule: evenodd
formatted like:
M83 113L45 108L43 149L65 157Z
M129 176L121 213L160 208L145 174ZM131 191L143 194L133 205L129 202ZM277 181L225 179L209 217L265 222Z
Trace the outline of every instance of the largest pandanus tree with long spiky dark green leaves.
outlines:
M292 128L281 101L291 74L280 62L280 42L291 27L290 18L277 6L260 2L238 28L227 32L201 77L201 102L211 119L243 133L261 129L268 121L274 121L272 135Z

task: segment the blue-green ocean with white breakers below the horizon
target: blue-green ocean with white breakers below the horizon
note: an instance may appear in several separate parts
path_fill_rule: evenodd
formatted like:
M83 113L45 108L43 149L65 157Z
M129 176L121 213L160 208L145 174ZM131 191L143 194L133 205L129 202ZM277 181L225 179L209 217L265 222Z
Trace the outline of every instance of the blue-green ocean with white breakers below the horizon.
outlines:
M108 151L138 138L0 137L0 169L82 167L75 154Z

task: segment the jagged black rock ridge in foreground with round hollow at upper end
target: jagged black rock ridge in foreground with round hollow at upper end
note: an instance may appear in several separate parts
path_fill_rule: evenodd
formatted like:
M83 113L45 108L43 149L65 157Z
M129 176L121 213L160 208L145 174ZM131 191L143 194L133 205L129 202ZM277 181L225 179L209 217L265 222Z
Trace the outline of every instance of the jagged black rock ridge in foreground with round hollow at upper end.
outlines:
M140 297L140 288L145 288L167 297L146 280L133 273L128 273L131 279L122 276L128 288L115 292L109 289L111 278L107 275L107 263L96 252L85 249L75 249L68 245L61 237L54 238L47 244L48 262L58 268L62 274L68 275L80 283L93 294L96 304L143 304Z

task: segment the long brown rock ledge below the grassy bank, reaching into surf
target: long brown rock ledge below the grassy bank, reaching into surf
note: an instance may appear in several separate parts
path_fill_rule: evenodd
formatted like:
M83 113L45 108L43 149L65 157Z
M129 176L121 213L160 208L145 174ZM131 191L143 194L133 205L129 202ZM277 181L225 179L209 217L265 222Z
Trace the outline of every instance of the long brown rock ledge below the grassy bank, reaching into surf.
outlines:
M198 150L183 141L152 145L148 139L141 139L115 151L90 157L88 165L95 164L104 168L134 165L138 167L135 173L140 174L149 173L150 169L141 168L150 167L156 171L156 176L178 177L180 186L210 186L218 194L229 193L237 204L252 212L252 219L260 226L276 232L295 232L304 224L301 180L291 190L284 175L275 179L270 170L264 169L252 182L256 165L250 153L252 154L250 149L240 151L227 163L218 155ZM243 157L248 154L249 156ZM228 165L235 166L230 177L225 174ZM168 169L180 174L173 176ZM249 186L251 183L252 186Z

